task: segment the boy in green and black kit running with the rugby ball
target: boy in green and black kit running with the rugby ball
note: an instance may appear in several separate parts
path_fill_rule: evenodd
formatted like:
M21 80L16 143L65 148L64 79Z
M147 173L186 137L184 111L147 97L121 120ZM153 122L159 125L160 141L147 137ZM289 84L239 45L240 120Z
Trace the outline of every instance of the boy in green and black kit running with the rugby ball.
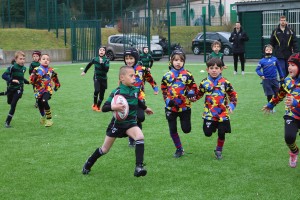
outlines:
M85 162L82 173L88 174L91 171L92 166L95 164L98 158L108 153L116 138L128 137L135 141L135 160L136 167L134 170L134 176L140 177L147 174L147 170L144 168L144 135L142 130L137 125L137 108L142 108L147 114L153 114L150 108L144 104L143 101L138 99L139 89L135 87L135 71L130 66L122 66L119 71L120 85L118 88L112 91L107 101L102 107L103 112L108 111L124 111L125 106L123 104L113 104L111 102L115 95L122 95L126 98L129 104L129 113L125 120L118 121L114 117L106 129L106 136L104 143L100 148L97 148L95 152Z

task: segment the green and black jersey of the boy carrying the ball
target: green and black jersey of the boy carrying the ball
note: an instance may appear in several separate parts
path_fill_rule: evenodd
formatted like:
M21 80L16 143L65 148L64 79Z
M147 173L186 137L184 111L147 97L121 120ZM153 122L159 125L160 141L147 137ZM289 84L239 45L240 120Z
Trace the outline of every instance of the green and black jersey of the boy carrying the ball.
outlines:
M125 127L128 124L137 124L136 119L137 119L138 106L144 110L147 107L142 101L138 100L139 90L134 86L128 87L121 83L118 88L116 88L115 90L113 90L111 92L107 101L105 102L105 104L102 107L102 111L103 112L112 111L111 101L113 100L114 96L117 94L122 95L126 98L128 105L129 105L129 113L128 113L127 118L123 121L118 121L114 117L113 117L112 121L114 121L114 123L119 127Z

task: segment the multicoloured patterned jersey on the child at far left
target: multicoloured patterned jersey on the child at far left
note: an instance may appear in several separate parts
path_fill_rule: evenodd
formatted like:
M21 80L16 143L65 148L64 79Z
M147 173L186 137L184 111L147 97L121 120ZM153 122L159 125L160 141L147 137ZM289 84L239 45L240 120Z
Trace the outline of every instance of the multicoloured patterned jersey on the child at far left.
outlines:
M35 98L40 98L45 92L53 93L60 87L57 73L52 67L40 65L30 75L31 84L35 87ZM54 85L53 85L54 84Z

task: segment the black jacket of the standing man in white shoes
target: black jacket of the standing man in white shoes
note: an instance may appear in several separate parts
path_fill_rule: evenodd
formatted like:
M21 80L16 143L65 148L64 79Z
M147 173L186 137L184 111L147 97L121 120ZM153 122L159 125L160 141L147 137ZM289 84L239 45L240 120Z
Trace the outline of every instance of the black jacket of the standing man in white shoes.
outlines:
M249 40L246 32L243 31L242 27L240 32L233 29L230 35L229 42L232 42L232 53L245 53L245 42Z

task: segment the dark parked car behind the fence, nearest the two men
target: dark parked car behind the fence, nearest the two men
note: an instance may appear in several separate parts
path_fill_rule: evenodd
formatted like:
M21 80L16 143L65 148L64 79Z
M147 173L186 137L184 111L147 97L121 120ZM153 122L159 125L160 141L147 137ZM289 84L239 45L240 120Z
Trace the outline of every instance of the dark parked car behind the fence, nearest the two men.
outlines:
M211 44L213 41L218 40L222 44L221 52L227 56L232 53L232 43L229 42L230 32L206 32L206 52L211 52ZM195 55L203 53L204 49L204 35L198 33L198 35L192 41L192 51Z

